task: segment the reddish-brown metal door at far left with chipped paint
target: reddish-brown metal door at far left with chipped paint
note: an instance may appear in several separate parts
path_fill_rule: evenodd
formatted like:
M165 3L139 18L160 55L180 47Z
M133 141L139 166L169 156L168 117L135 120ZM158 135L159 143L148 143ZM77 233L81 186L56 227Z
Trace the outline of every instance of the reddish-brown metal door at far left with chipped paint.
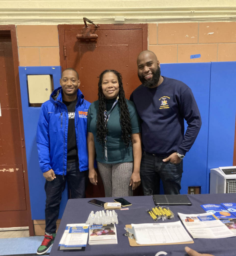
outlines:
M10 31L0 33L0 227L29 226Z

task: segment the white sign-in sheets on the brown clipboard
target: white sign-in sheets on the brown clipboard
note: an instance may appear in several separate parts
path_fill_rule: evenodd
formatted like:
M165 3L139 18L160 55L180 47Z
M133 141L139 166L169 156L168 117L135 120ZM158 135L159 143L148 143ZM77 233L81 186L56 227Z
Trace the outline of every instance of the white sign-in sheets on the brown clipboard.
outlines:
M180 221L131 224L138 244L166 244L191 242L192 238Z

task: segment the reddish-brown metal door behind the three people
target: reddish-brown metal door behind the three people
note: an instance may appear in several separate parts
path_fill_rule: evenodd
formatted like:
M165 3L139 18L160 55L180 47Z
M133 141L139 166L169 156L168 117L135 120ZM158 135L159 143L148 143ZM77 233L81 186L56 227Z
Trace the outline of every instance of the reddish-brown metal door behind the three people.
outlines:
M89 25L94 28L92 24ZM98 99L98 76L105 69L115 69L122 74L125 96L140 84L137 77L136 59L147 49L147 24L101 24L91 30L98 35L97 42L82 42L76 35L81 34L84 25L58 25L60 63L62 70L74 68L78 71L85 99ZM98 184L102 184L98 180ZM87 197L104 196L102 185L89 183Z

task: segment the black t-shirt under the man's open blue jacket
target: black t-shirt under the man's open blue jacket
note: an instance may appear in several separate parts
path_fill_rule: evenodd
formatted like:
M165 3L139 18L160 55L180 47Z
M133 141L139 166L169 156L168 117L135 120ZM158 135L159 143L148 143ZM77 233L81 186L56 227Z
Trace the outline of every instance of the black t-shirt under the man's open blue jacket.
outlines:
M74 127L74 110L76 107L77 99L74 101L64 101L67 106L69 124L67 133L67 163L73 163L78 161L78 149L76 145L76 133Z

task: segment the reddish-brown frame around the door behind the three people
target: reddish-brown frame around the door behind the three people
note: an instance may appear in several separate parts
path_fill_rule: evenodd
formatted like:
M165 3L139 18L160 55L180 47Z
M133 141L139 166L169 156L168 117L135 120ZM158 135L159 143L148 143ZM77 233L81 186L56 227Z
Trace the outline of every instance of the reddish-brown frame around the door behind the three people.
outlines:
M100 29L142 29L142 42L143 42L143 48L142 50L147 50L147 34L148 34L148 26L147 23L142 24L99 24L99 28L94 29L93 24L89 24L91 27L91 31L94 30L94 33L96 33L96 30ZM78 29L78 34L81 33L82 27L84 27L84 24L59 24L58 26L58 35L59 35L59 52L60 52L60 65L61 69L66 69L66 58L64 57L64 44L65 44L65 35L64 30L65 29L78 29L78 27L81 27ZM91 32L93 33L93 32ZM75 38L76 39L76 38Z

